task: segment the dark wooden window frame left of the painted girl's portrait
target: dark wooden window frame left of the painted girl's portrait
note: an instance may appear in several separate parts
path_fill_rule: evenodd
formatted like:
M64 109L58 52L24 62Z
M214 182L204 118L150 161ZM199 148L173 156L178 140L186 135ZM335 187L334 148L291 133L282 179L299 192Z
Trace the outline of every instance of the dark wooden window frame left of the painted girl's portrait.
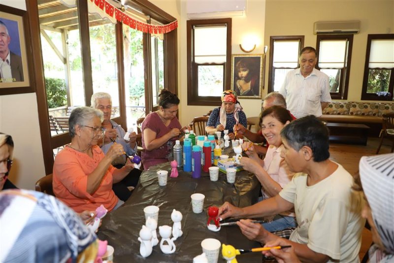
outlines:
M223 89L231 89L231 18L187 20L187 81L188 81L188 105L217 106L220 97L198 96L198 66L214 66L223 64L196 64L194 62L194 26L227 26L226 63L224 66Z

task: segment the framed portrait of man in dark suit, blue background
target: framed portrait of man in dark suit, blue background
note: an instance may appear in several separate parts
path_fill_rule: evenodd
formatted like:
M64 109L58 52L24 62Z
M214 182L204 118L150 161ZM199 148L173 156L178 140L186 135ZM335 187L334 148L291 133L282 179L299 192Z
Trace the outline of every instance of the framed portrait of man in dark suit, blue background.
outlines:
M0 37L5 43L0 45L0 59L6 60L0 64L0 95L32 93L33 63L28 14L25 10L3 4L0 4L0 10Z

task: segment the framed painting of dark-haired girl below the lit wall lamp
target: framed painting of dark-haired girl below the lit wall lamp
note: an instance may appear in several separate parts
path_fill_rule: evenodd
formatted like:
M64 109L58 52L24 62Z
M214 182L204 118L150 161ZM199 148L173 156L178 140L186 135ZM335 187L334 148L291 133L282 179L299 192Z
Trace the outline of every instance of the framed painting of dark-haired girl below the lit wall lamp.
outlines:
M240 99L262 98L263 54L231 56L231 90L235 91Z

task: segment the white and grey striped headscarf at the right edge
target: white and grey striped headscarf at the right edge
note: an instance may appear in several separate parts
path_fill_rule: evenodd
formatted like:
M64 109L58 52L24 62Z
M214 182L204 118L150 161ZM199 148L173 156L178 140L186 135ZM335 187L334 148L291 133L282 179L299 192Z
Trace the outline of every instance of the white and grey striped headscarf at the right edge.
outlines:
M380 239L394 254L394 154L363 156L360 178Z

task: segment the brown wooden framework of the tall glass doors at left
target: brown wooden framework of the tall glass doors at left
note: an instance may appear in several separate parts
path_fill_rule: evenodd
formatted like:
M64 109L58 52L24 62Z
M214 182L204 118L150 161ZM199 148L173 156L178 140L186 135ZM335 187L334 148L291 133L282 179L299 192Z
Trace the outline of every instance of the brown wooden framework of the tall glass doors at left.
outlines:
M130 1L129 6L132 6L136 10L150 16L151 18L159 21L163 24L168 24L175 21L176 19L171 15L161 10L156 5L152 4L148 0L134 0ZM34 74L34 80L36 85L36 96L37 96L37 110L38 110L38 121L40 123L40 135L41 145L45 166L45 173L52 173L54 157L53 149L63 146L70 142L70 136L68 132L64 132L55 136L51 136L48 106L46 101L45 81L44 81L44 68L42 61L41 41L40 41L40 24L38 18L37 0L26 1L26 8L28 10L29 17L29 31L31 38L26 41L32 43L32 57L33 64L32 71ZM84 86L85 86L85 101L86 105L90 105L90 98L93 95L93 80L92 80L92 65L90 56L90 38L89 38L89 18L88 18L88 4L87 1L77 1L77 12L79 21L79 30L81 38L81 46L84 47L84 52L81 54ZM123 29L122 24L118 22L116 24L116 57L117 57L117 71L118 71L118 88L119 88L119 103L120 103L120 116L113 120L123 127L126 125L126 98L125 94L125 79L123 76L124 72L124 54L123 54ZM143 40L150 40L150 34L144 33ZM149 43L144 42L144 70L145 70L145 101L146 113L154 110L152 106L151 96L151 82L150 82L150 70L151 64L148 59L150 53ZM164 34L164 87L169 91L178 94L178 54L177 54L177 29Z

